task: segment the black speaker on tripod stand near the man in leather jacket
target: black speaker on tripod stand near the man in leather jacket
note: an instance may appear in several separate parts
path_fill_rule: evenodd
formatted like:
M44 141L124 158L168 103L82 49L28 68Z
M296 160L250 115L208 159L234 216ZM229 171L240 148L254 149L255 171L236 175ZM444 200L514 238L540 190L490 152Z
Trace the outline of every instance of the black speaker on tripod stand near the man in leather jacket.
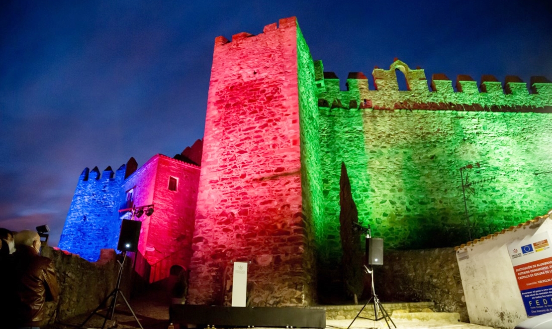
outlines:
M134 217L134 211L132 213L132 217ZM123 295L123 291L121 291L121 279L123 278L123 269L125 268L125 260L126 260L126 253L127 252L137 252L138 250L138 241L140 239L140 228L142 227L142 222L140 221L132 221L132 220L123 220L123 223L121 224L121 233L119 234L119 243L117 244L117 249L121 252L123 252L123 262L119 262L119 274L117 276L117 283L115 285L115 289L105 297L105 299L100 302L98 307L88 317L84 322L81 324L81 328L86 325L86 322L92 318L94 314L97 314L99 316L102 316L105 318L104 323L102 325L102 329L105 328L105 323L107 323L107 320L113 320L113 316L115 315L115 306L117 305L117 296L121 295L123 297L123 300L125 301L126 306L129 308L130 312L132 313L132 316L134 316L134 320L138 323L141 329L144 329L142 327L142 324L140 323L140 320L136 317L136 314L134 313L134 310L132 310L132 307L130 307L129 301L126 300L125 295ZM111 303L108 307L107 314L102 315L99 314L98 311L102 308L103 305L107 305L107 301L113 297L111 300Z

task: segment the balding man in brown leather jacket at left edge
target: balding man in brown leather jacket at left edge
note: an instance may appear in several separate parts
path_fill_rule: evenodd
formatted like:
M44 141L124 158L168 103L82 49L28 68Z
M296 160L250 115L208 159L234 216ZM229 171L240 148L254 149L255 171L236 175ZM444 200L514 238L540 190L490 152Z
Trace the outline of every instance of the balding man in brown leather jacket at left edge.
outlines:
M40 255L40 236L33 231L15 234L17 251L10 259L9 281L13 283L12 304L15 328L39 328L44 304L57 300L58 286L52 260Z

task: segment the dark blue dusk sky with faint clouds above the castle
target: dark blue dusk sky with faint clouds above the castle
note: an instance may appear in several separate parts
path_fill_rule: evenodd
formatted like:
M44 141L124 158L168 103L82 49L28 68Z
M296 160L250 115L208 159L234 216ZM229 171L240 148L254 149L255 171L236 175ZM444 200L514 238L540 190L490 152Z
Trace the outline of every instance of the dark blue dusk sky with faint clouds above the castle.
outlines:
M216 36L296 16L312 57L343 80L394 58L428 82L552 80L546 3L3 1L0 227L49 224L56 246L84 168L116 170L131 156L141 165L203 138Z

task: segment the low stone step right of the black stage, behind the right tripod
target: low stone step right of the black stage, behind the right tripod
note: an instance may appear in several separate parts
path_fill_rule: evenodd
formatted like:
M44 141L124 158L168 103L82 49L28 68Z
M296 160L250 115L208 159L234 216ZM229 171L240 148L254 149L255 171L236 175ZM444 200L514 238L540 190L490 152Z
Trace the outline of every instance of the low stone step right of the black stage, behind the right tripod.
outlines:
M433 312L435 304L433 302L384 302L381 303L388 314L399 311L402 313L425 313ZM343 320L346 318L354 318L364 304L361 305L321 305L313 306L312 308L325 309L327 320ZM364 307L360 314L362 317L374 317L374 304L369 303Z

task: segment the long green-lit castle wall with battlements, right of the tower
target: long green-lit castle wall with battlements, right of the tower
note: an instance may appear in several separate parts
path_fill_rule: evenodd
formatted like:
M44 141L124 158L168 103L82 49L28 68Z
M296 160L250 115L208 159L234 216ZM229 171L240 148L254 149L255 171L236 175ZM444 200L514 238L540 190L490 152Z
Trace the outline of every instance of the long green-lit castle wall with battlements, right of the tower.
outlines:
M386 248L455 246L542 215L552 208L552 84L484 76L459 76L457 90L434 75L396 60L374 69L376 90L362 73L350 74L347 91L316 62L319 90L323 217L315 224L321 260L338 257L339 169L351 179L359 222L370 224ZM396 70L410 90L399 91ZM405 79L403 77L402 79ZM460 170L475 194L466 191L466 221Z

